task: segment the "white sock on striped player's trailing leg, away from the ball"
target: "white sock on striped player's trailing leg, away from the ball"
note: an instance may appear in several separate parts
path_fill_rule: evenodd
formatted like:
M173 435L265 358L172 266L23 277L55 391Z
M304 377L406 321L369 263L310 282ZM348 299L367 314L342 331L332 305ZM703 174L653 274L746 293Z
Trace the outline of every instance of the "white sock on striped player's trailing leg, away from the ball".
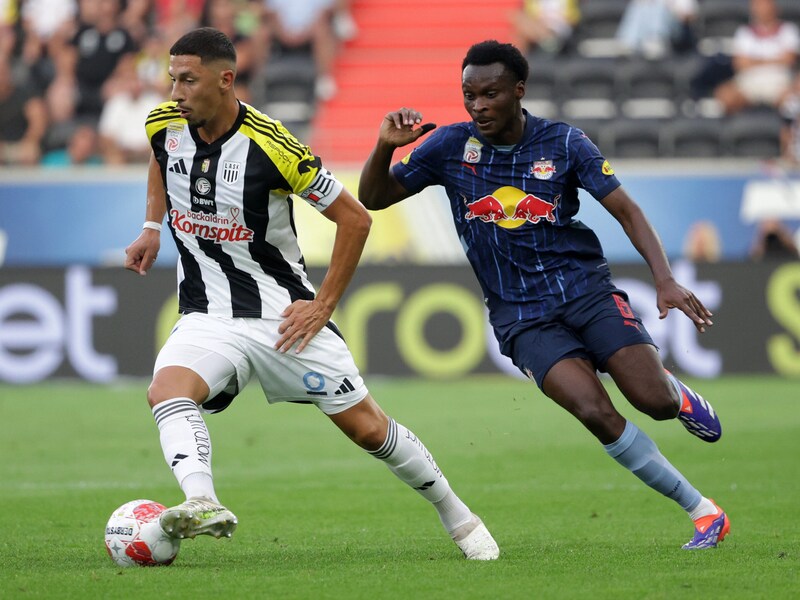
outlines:
M449 533L472 518L469 508L450 488L428 449L413 432L394 419L389 419L383 445L370 454L386 463L398 479L433 504Z

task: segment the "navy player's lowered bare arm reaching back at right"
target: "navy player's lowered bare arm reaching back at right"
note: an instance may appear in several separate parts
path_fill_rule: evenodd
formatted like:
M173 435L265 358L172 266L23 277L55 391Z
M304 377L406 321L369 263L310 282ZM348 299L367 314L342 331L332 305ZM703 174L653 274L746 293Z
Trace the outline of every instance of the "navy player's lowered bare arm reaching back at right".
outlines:
M699 332L705 332L707 326L713 325L711 311L694 293L675 281L661 240L639 205L622 187L615 189L600 203L619 221L631 243L650 267L656 284L659 318L665 318L669 309L677 308L694 321Z

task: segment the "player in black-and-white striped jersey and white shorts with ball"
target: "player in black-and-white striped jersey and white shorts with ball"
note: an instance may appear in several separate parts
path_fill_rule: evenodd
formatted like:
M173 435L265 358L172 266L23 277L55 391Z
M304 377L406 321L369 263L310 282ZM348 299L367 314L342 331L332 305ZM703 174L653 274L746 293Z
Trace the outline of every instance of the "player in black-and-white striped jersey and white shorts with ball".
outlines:
M236 528L214 489L201 413L225 409L253 376L269 402L315 404L383 461L434 506L466 558L497 558L489 531L422 442L369 394L330 320L361 256L369 213L280 122L237 100L236 52L223 33L184 35L170 49L169 73L172 100L146 122L146 221L125 263L147 273L166 216L183 316L156 358L147 395L186 501L164 511L162 529L193 538L229 537ZM297 243L295 196L336 224L318 292Z

